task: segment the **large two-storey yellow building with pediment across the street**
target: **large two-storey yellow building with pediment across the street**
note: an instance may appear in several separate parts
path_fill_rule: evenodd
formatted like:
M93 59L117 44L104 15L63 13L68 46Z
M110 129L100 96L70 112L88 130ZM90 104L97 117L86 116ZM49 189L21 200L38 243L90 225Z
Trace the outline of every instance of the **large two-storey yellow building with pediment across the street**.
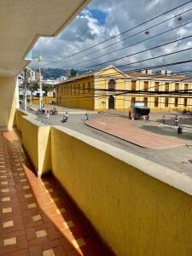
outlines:
M183 75L123 73L109 66L57 84L56 98L58 104L67 108L125 111L131 108L131 102L145 102L152 110L179 110L192 109L192 102L189 95L180 96L177 91L191 89L192 80ZM160 91L167 94L160 96Z

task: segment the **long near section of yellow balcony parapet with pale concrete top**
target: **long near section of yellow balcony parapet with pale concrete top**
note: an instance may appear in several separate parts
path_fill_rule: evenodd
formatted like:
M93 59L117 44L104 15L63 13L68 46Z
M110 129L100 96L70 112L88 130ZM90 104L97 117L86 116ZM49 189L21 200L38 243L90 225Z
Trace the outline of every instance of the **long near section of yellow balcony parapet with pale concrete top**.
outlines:
M53 174L118 256L191 255L190 177L61 126L51 155Z

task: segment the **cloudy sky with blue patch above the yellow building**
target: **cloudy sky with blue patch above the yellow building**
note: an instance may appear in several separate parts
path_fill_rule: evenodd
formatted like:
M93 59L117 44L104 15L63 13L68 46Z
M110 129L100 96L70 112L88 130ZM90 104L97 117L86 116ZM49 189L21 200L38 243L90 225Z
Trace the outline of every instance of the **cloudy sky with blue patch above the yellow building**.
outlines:
M186 2L188 1L93 0L60 35L55 38L39 38L38 43L33 48L33 55L36 56L40 53L42 56L42 67L74 68L77 70L95 70L113 65L121 70L129 71L137 68L190 60L192 59L192 49L151 61L143 61L158 55L192 48L192 37L189 37L190 35L192 36L192 10L189 10L192 9L192 3L147 22L143 26L132 29L134 26ZM184 11L187 12L181 15L181 20L178 20L176 15ZM172 19L167 20L169 18ZM167 21L154 26L165 20ZM182 26L185 23L189 24ZM150 26L154 27L150 28ZM166 32L177 26L180 27ZM125 32L127 30L129 32ZM146 31L148 31L148 34L145 33ZM122 32L124 33L119 35ZM161 32L160 36L150 39L150 37ZM108 38L116 35L119 36L108 40ZM166 44L177 39L179 41ZM108 41L99 44L104 40ZM143 40L145 41L140 43ZM160 44L166 45L150 49ZM79 53L79 51L81 52ZM138 53L140 51L144 52ZM63 59L61 60L61 58ZM119 60L115 61L117 58ZM133 63L137 61L140 62ZM32 61L31 67L37 67L37 61ZM174 72L192 70L192 62L166 69Z

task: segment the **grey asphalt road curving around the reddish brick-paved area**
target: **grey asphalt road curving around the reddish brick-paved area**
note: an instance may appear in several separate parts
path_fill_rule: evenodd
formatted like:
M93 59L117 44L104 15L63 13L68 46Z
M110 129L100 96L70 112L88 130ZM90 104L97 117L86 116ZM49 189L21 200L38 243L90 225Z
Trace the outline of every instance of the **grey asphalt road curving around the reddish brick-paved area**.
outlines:
M101 117L102 114L91 113L90 119ZM108 114L104 114L108 116ZM67 123L61 123L62 115L58 114L55 116L50 116L49 119L44 117L39 117L39 120L45 124L50 125L62 125L70 128L74 131L79 131L87 136L99 139L104 143L108 143L117 148L122 148L125 151L137 154L145 159L152 160L160 165L167 166L173 170L181 173L185 173L192 177L192 134L183 133L182 141L185 143L184 146L176 148L166 148L166 149L149 149L141 148L134 144L125 142L117 137L113 137L102 131L97 131L94 128L90 128L84 123L84 114L82 113L71 113L69 114L69 119ZM151 123L153 124L153 123ZM170 125L147 125L147 123L138 123L143 129L147 131L154 131L155 133L163 134L164 136L171 136L172 138L177 138L177 131L174 130Z

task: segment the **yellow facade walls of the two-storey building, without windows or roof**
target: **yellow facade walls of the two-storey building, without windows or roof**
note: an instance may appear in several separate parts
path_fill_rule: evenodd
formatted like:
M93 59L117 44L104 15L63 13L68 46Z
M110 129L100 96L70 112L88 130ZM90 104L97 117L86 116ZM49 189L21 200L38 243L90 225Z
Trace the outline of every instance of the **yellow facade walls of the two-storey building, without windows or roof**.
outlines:
M72 82L68 82L65 84L58 85L58 93L57 93L57 102L60 103L62 106L68 107L68 108L84 108L84 109L94 109L94 110L108 110L108 98L110 95L114 95L115 92L113 91L101 91L101 89L108 90L108 81L109 79L115 79L116 86L115 88L117 90L131 90L131 79L137 80L136 82L136 90L144 90L144 81L148 82L148 90L154 91L155 82L159 82L159 90L165 90L165 83L169 83L169 90L175 90L175 83L173 83L172 80L170 81L163 81L163 80L139 80L138 78L128 78L125 76L124 73L120 73L118 69L115 69L113 67L106 68L102 72L96 73L95 78L88 79L76 79ZM83 94L82 87L83 83L88 84L88 81L91 81L91 89L95 89L95 97L89 97L89 94L85 95ZM80 95L74 95L72 92L71 95L71 86L73 87L74 84L76 86L80 84L81 93ZM179 90L184 90L184 82L179 83ZM66 93L64 93L64 87L69 88L68 90L68 96L67 96L67 90ZM97 89L100 89L98 91ZM191 84L189 84L189 89L192 90ZM97 91L96 91L97 90ZM73 90L72 90L73 91ZM120 93L120 91L117 91L117 94ZM92 95L91 95L92 96ZM156 95L158 96L158 95ZM159 103L158 107L154 106L154 98L155 96L151 95L143 95L143 94L134 94L134 93L128 93L121 96L113 96L114 97L114 109L118 111L127 111L128 109L131 109L131 97L135 97L137 102L143 102L144 97L148 98L148 107L151 108L151 110L183 110L184 108L192 110L192 99L188 98L188 106L184 107L183 102L184 99L181 98L179 95L178 97L178 105L175 107L175 99L172 97L169 97L169 104L168 107L165 106L165 97L158 96ZM189 96L186 96L189 97Z

